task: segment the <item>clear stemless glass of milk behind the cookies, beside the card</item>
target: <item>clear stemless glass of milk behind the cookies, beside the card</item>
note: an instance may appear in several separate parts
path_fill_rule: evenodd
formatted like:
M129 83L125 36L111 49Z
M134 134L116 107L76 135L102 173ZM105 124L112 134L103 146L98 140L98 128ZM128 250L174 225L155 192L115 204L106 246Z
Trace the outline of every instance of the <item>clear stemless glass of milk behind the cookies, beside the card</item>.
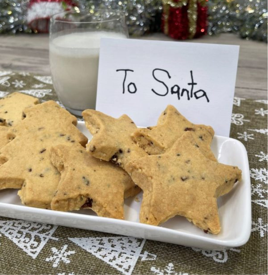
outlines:
M76 10L50 22L49 60L54 89L68 111L95 109L100 40L128 38L124 13Z

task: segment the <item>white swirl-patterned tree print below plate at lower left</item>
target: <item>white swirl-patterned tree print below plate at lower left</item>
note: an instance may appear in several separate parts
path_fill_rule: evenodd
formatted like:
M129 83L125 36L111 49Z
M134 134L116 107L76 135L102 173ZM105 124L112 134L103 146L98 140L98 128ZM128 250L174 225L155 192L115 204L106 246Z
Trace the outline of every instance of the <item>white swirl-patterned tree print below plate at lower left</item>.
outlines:
M52 237L57 226L25 220L0 220L0 232L26 252L33 259L37 257L48 240L58 240Z

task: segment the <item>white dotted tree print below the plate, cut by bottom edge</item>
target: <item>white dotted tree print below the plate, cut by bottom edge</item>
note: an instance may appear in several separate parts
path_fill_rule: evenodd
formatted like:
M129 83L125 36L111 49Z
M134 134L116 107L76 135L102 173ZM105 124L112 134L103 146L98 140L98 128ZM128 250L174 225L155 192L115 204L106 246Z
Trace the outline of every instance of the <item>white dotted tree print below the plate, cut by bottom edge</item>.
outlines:
M69 238L69 240L123 274L132 273L145 244L145 240L124 236Z

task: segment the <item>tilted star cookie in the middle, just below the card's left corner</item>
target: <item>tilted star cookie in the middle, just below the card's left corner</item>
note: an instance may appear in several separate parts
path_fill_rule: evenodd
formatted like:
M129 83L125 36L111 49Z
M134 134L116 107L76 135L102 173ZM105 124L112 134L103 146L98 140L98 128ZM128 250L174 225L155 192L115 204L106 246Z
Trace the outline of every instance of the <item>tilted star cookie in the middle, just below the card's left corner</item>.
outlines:
M115 119L99 111L85 110L82 116L93 135L87 145L87 151L92 156L111 160L123 169L128 161L147 156L147 153L131 139L131 133L137 126L127 115Z

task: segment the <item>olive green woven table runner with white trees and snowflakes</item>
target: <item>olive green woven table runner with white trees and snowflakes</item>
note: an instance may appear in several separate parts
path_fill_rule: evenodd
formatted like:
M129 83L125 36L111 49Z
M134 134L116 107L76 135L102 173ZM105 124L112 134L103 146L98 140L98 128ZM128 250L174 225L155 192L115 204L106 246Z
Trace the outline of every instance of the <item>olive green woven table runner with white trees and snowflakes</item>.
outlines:
M0 97L13 91L57 101L50 76L0 71ZM235 97L231 122L250 164L244 246L209 251L0 217L0 274L267 274L267 100Z

